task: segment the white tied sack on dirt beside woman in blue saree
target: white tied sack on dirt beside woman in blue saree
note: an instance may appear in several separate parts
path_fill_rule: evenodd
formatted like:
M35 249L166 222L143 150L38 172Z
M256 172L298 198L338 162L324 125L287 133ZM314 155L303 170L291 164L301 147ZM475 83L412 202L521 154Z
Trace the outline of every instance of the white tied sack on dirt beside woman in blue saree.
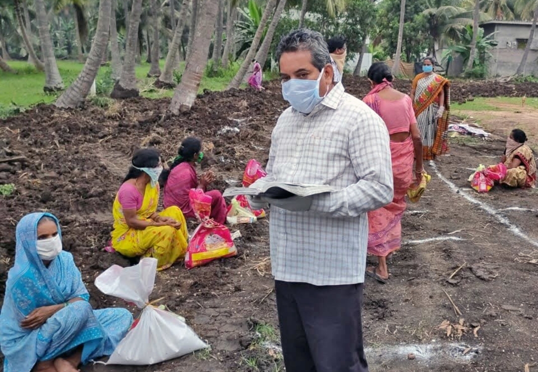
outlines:
M136 266L114 265L95 278L95 286L104 294L143 309L106 364L155 364L207 347L185 319L148 302L156 272L157 259L146 257Z

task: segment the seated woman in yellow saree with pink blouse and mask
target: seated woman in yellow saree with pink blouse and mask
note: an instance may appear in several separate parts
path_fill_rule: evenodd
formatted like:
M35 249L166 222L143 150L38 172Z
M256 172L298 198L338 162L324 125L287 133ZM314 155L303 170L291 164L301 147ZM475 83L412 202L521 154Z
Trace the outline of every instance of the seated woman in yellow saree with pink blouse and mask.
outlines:
M153 148L134 153L129 173L118 190L112 213L112 248L127 257L154 257L164 270L185 256L187 224L183 213L171 206L157 213L159 152Z

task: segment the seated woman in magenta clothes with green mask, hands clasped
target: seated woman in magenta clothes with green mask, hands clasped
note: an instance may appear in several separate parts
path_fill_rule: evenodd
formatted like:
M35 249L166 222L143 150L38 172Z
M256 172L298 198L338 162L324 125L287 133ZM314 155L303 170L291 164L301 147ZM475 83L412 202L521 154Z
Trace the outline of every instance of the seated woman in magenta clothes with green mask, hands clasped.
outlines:
M189 190L202 189L206 192L209 184L215 181L215 174L208 170L200 177L196 175L196 163L200 163L203 158L202 142L194 137L189 137L181 142L178 156L169 170L162 172L160 179L164 184L164 206L169 208L173 205L179 206L187 218L196 218L193 208L190 205ZM211 215L216 222L224 224L226 222L226 202L221 192L218 190L207 191L206 195L211 197Z

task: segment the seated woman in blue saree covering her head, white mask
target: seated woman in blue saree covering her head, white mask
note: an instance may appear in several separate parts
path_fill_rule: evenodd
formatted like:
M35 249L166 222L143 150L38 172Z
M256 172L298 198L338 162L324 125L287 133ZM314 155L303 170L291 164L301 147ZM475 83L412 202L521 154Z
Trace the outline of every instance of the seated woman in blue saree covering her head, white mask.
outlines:
M0 312L4 372L74 372L110 355L128 332L126 309L92 310L58 219L31 213L17 225L15 266Z

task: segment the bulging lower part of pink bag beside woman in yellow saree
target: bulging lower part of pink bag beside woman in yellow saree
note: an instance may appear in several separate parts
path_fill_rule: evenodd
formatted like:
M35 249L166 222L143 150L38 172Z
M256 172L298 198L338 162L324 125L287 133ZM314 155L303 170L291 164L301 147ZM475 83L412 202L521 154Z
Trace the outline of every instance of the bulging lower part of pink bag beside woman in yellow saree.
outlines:
M230 230L214 220L203 221L190 238L185 254L185 267L202 266L216 259L237 255Z

